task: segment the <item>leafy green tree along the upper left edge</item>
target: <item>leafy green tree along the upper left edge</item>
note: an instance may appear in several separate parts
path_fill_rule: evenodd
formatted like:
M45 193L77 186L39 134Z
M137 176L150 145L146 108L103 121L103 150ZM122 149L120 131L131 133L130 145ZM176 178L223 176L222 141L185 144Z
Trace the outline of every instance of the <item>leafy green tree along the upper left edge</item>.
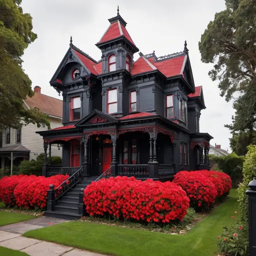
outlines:
M21 56L37 35L32 32L32 17L23 13L20 4L21 0L0 0L0 127L30 122L49 127L47 116L38 108L23 107L33 91Z

